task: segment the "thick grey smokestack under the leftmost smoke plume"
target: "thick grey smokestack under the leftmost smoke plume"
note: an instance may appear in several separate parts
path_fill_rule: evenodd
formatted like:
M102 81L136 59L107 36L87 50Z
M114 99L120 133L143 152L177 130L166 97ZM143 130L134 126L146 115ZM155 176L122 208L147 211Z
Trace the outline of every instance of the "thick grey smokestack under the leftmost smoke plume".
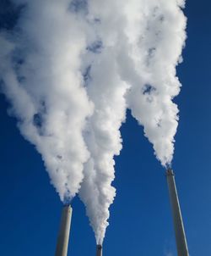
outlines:
M67 256L70 223L72 217L72 208L70 205L64 205L62 209L62 220L57 238L57 249L55 256Z

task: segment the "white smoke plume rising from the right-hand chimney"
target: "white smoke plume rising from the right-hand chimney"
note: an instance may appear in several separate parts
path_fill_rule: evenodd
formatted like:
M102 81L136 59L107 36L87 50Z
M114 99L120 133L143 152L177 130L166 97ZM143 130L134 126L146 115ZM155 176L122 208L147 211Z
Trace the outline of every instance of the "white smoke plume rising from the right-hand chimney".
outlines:
M157 159L166 165L173 157L178 125L178 109L172 99L181 86L176 64L181 61L186 39L186 18L180 8L184 1L144 3L136 0L128 3L127 36L133 59L130 69L136 74L123 75L133 85L127 95L128 108L143 125Z

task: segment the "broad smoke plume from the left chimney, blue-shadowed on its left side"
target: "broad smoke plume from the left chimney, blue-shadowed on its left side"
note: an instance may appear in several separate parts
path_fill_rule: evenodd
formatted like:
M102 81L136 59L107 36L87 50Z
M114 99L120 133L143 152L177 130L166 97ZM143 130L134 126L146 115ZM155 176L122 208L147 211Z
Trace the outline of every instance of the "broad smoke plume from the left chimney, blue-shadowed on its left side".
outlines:
M14 31L1 35L3 90L63 201L78 192L89 159L83 130L93 105L80 72L86 25L69 1L24 4Z

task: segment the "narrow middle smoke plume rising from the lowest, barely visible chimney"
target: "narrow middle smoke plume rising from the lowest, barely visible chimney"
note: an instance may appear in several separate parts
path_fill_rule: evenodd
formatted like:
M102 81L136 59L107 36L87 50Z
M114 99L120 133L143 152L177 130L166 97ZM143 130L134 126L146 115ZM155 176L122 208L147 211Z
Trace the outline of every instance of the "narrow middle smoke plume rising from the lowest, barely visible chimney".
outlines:
M86 205L98 244L102 244L105 237L109 207L116 195L115 188L111 186L114 180L113 157L122 148L119 129L125 120L125 96L129 88L127 82L122 81L118 64L118 58L124 55L125 50L122 45L125 17L118 8L120 3L89 1L89 17L96 20L99 47L97 52L95 49L94 53L84 56L86 62L91 63L88 94L95 103L95 111L89 120L86 136L91 157L85 165L79 196Z

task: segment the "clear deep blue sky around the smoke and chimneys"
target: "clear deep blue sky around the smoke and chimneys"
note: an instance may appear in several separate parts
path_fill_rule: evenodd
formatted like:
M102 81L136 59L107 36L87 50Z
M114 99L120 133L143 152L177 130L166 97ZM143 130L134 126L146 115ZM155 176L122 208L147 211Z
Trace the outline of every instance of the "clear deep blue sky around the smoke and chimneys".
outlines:
M3 7L2 1L0 10ZM178 68L181 94L173 169L192 256L211 255L211 3L187 1L187 47ZM0 12L1 14L1 12ZM2 16L1 25L8 19ZM8 20L7 20L8 22ZM19 134L0 95L0 254L53 255L62 203L41 156ZM165 170L131 114L116 157L117 194L111 205L104 255L176 256ZM73 199L68 255L95 255L84 204Z

